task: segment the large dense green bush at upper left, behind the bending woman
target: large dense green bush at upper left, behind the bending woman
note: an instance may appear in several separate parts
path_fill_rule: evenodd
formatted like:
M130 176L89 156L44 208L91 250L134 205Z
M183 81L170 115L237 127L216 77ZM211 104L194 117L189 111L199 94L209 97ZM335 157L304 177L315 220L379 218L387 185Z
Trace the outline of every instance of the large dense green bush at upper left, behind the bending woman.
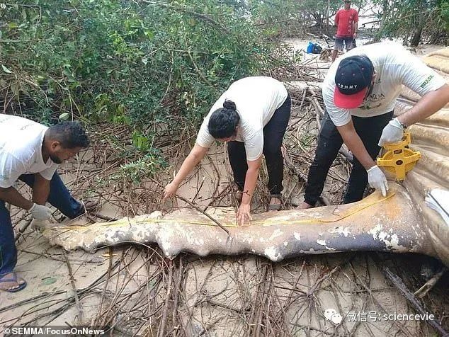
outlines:
M149 163L156 161L161 133L176 137L176 130L197 126L232 81L273 67L278 46L254 26L256 17L243 15L243 5L237 0L2 5L2 106L45 124L62 116L88 125L127 125L130 132L120 139L132 147L127 159L149 157L124 172L153 169L158 165Z

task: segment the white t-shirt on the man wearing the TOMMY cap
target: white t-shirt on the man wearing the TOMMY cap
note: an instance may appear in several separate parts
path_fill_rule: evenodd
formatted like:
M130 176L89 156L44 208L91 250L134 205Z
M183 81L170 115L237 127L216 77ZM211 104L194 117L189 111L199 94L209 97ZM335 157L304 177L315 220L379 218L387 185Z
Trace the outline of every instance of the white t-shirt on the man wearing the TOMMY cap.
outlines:
M353 55L366 55L377 73L373 91L362 105L343 109L334 105L335 73L341 59ZM329 117L336 126L346 125L351 115L373 117L394 109L402 85L424 96L445 84L443 77L411 55L402 45L393 42L373 43L357 47L334 62L323 82L323 98Z

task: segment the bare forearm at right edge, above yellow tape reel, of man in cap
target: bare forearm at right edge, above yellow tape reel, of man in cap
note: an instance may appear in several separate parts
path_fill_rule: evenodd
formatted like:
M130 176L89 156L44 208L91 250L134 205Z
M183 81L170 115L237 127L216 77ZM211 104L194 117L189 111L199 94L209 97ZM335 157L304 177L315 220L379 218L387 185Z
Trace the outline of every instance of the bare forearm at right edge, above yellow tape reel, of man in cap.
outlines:
M443 108L449 102L449 86L445 84L441 88L426 93L414 105L413 108L400 115L397 120L404 125L412 125L416 122L424 120Z

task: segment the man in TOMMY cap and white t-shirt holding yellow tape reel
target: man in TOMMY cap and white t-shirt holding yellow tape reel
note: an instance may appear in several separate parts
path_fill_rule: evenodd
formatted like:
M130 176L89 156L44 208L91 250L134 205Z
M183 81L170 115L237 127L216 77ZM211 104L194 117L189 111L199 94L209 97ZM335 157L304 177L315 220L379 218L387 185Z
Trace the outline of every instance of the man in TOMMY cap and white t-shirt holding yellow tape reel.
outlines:
M393 118L402 85L422 98L406 113ZM392 42L347 52L331 65L322 91L326 115L309 169L305 201L300 206L303 209L317 202L343 142L354 155L343 202L361 200L367 182L386 195L387 179L375 163L380 147L399 142L407 126L436 113L449 101L449 86L444 79Z

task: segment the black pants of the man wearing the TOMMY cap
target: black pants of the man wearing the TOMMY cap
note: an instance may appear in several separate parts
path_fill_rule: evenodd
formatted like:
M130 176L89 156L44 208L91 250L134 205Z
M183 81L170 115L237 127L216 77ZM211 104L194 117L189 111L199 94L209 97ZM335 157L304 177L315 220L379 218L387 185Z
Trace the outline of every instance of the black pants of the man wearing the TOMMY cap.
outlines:
M380 135L382 135L382 130L392 117L393 111L370 118L352 117L356 132L373 160L375 160L380 151L377 142L379 142ZM319 132L317 152L315 152L315 157L307 176L304 199L309 205L314 206L319 195L321 195L327 173L336 159L342 144L343 139L339 131L326 113L322 120L322 130ZM348 188L346 189L343 202L349 203L362 200L367 184L368 173L366 173L365 168L354 156L353 168L351 176L349 176Z

